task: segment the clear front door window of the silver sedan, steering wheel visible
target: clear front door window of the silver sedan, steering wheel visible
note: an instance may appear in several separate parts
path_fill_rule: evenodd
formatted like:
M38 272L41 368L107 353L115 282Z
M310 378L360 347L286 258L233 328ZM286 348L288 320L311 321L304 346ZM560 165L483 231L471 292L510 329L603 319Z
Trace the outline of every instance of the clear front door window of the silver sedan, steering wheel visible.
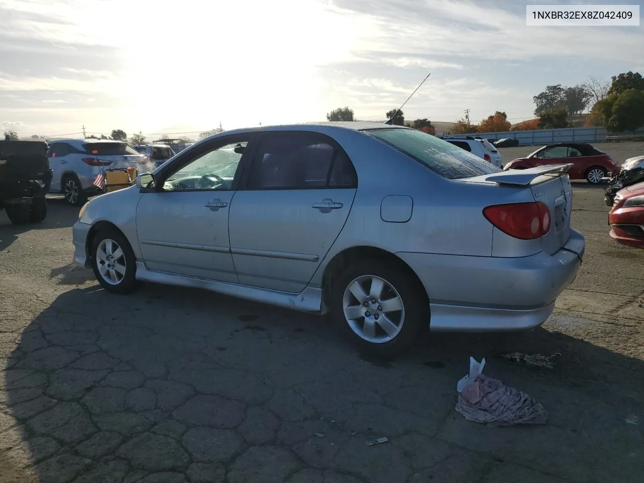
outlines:
M172 173L164 191L231 189L247 142L233 142L202 153Z

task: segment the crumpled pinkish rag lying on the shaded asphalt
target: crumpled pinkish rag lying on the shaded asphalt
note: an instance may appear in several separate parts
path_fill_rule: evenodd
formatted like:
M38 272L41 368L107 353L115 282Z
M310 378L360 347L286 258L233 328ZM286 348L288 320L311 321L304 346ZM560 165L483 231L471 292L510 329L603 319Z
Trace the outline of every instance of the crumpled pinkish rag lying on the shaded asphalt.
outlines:
M484 374L463 388L456 410L468 421L493 426L545 424L548 418L544 406L535 399Z

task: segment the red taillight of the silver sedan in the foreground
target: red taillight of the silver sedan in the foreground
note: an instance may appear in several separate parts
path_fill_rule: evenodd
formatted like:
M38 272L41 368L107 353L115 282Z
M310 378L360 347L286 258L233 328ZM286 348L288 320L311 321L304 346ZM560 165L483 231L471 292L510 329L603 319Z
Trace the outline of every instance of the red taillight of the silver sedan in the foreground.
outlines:
M492 205L483 214L500 231L520 240L535 240L550 231L550 210L542 202Z

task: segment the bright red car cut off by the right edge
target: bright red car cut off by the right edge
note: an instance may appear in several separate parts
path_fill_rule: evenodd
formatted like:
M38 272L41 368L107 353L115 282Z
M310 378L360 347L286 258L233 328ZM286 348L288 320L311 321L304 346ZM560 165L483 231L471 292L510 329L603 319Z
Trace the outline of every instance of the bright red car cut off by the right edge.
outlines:
M629 247L644 248L644 182L617 192L608 223L613 240Z

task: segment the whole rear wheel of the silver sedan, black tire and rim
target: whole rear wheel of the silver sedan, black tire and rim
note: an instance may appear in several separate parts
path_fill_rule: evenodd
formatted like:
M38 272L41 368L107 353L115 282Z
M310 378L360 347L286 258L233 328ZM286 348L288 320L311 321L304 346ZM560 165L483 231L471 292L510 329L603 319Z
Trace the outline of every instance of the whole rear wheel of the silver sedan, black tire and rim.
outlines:
M357 260L336 276L330 310L352 345L383 359L406 352L430 325L422 285L386 259Z

